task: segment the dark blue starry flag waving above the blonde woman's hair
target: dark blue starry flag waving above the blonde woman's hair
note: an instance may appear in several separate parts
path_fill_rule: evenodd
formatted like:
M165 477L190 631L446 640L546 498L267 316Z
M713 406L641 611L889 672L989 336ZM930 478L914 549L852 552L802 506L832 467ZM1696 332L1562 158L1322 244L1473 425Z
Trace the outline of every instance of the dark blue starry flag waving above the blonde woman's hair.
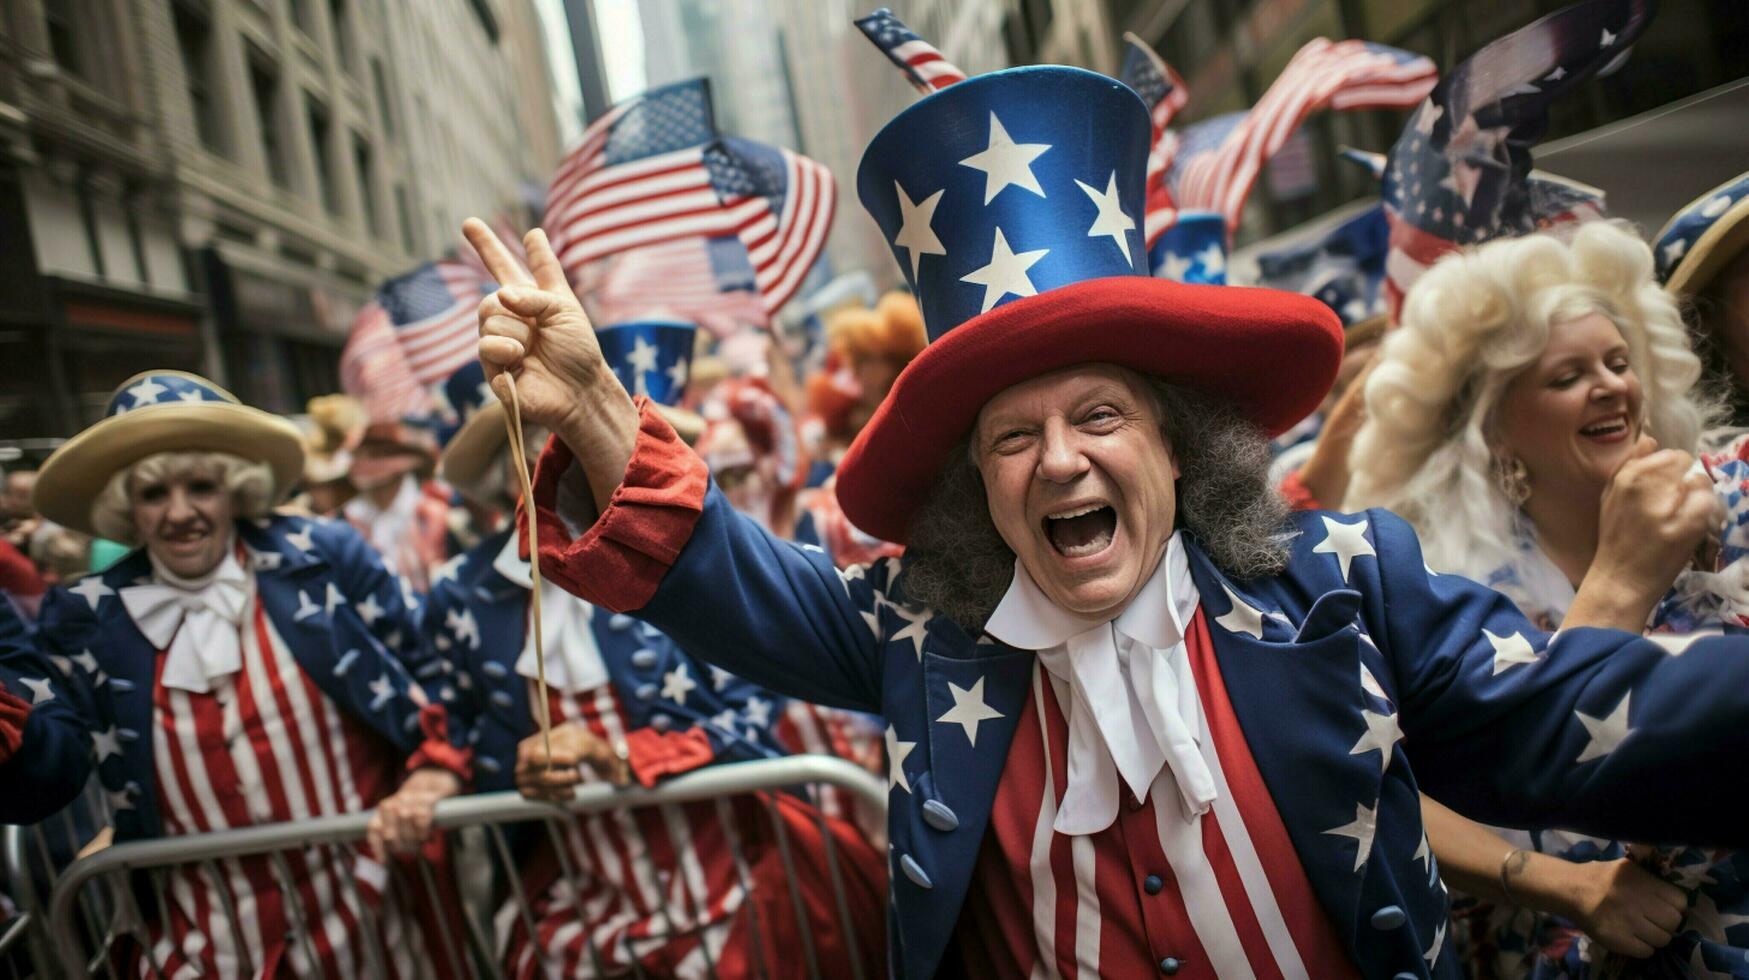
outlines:
M1390 312L1434 259L1476 242L1602 212L1583 184L1532 182L1530 147L1562 94L1611 66L1651 21L1651 0L1583 0L1488 42L1439 79L1383 172Z

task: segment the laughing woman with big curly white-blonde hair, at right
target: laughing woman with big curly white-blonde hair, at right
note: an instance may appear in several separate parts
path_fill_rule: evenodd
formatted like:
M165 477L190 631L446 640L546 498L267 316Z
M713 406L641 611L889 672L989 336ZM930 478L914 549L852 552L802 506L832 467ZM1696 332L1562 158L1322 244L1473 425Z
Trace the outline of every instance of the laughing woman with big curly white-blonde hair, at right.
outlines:
M1403 514L1431 572L1487 583L1544 628L1716 630L1733 604L1712 574L1714 481L1691 455L1716 415L1698 376L1651 250L1621 224L1452 254L1410 290L1366 382L1345 506ZM1529 660L1511 640L1497 676ZM1726 901L1698 849L1658 850L1648 873L1607 840L1488 831L1432 800L1425 821L1441 873L1481 901L1459 914L1478 970L1742 956L1688 912L1695 891L1697 908Z

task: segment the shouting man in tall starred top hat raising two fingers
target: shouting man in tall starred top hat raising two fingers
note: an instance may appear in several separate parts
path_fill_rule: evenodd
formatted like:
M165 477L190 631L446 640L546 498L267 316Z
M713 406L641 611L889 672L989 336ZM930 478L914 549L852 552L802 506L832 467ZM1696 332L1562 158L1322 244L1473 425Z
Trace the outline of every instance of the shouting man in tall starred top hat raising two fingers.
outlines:
M1497 824L1749 838L1744 782L1716 779L1749 749L1744 640L1551 640L1389 513L1286 516L1265 439L1324 397L1341 326L1149 276L1147 138L1130 89L1063 66L874 136L859 192L930 345L838 481L909 548L845 572L609 390L560 275L505 278L481 357L556 432L542 569L887 718L904 976L1457 976L1420 789Z

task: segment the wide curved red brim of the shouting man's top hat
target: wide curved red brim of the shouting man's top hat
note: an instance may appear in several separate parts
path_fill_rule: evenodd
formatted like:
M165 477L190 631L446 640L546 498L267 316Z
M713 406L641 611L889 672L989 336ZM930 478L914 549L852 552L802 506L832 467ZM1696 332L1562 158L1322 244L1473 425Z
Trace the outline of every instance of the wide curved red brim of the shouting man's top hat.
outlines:
M948 331L899 374L838 467L845 516L904 542L985 402L1074 364L1119 364L1230 399L1277 436L1336 380L1341 320L1296 292L1146 276L1014 299Z

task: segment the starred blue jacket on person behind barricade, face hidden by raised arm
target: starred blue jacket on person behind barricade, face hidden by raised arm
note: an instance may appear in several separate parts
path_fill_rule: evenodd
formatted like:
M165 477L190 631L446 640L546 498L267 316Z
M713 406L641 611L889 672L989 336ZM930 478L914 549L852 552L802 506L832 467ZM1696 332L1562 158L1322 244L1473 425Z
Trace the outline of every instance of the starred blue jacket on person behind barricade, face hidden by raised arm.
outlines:
M509 537L509 530L488 536L434 576L422 623L430 656L416 670L467 728L481 791L514 788L516 746L537 732L528 679L516 672L530 592L493 567ZM623 612L598 609L591 628L628 732L698 726L715 761L785 754L773 737L782 696L693 660L661 630Z

